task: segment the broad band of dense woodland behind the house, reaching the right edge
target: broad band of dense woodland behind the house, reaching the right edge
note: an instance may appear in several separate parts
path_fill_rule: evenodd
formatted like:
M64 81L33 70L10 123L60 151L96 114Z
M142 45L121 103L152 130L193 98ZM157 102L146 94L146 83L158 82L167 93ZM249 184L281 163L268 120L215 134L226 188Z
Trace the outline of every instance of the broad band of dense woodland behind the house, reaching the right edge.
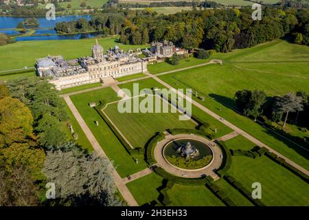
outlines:
M218 52L252 47L284 36L293 43L309 45L309 10L266 7L262 21L253 21L252 12L251 8L233 8L158 15L149 10L108 8L95 14L91 21L57 23L56 30L120 34L120 42L135 45L165 39L188 49L202 47Z

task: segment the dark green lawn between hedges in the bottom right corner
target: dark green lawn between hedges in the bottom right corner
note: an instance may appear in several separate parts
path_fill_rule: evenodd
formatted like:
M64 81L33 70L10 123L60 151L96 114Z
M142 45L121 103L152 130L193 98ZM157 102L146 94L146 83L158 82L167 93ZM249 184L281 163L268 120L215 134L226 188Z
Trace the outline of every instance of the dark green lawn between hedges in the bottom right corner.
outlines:
M253 182L260 182L266 206L309 206L309 185L266 156L232 157L228 173L250 192Z

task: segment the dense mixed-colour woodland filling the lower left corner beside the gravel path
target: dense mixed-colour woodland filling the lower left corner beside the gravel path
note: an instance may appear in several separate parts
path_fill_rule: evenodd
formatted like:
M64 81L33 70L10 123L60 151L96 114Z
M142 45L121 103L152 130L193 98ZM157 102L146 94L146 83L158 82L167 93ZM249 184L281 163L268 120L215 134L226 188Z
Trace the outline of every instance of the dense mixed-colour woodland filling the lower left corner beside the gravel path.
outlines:
M0 206L123 204L108 159L69 141L66 123L63 100L46 79L0 84ZM54 199L45 197L48 182Z

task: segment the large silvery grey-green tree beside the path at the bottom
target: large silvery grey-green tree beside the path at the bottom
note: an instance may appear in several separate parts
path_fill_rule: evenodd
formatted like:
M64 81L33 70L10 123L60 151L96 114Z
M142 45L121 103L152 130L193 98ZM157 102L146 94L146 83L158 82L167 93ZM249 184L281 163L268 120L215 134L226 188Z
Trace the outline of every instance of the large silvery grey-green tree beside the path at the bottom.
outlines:
M56 202L60 205L123 205L115 195L108 159L84 153L73 143L48 151L43 172L47 181L56 184Z

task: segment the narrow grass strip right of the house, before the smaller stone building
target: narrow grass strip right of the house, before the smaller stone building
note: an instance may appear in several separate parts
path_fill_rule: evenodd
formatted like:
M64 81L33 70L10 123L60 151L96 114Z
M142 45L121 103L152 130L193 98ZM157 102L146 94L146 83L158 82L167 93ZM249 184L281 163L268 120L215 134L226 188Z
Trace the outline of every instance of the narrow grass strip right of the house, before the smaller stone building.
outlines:
M197 59L194 57L189 57L189 58L181 59L181 61L179 62L179 65L176 65L176 66L170 63L162 62L162 63L155 63L152 65L148 65L147 68L151 74L159 74L161 72L168 72L174 69L181 69L184 67L190 67L190 66L201 64L201 63L207 63L207 62L209 62L209 59Z

